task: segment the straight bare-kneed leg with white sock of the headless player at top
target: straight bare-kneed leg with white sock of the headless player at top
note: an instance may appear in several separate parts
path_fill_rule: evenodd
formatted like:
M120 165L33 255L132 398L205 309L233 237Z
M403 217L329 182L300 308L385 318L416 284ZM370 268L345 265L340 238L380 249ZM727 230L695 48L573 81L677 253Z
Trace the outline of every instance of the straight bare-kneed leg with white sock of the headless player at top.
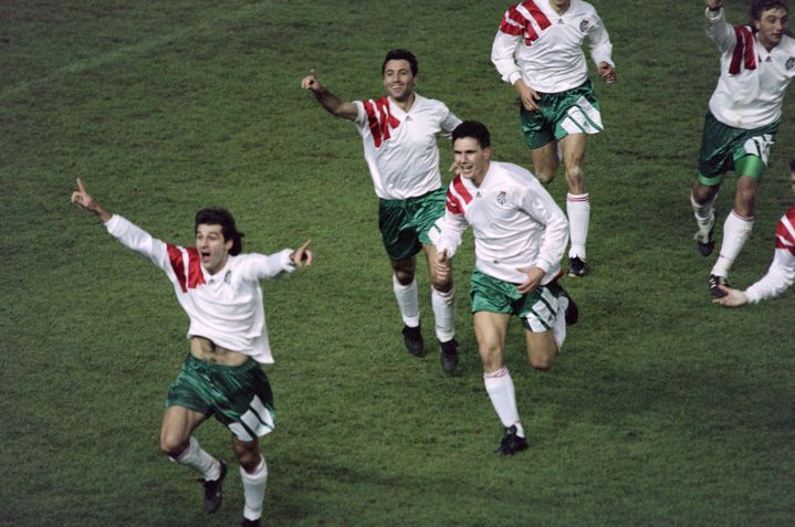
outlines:
M585 186L585 146L587 135L568 134L561 139L563 166L566 175L566 215L571 247L568 250L568 275L578 277L587 273L585 243L590 224L590 196Z

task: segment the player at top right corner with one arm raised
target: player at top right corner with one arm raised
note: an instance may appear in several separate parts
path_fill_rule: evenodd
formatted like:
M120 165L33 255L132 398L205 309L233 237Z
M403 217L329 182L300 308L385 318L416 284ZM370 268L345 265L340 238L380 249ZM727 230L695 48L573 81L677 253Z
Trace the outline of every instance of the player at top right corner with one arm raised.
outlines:
M721 250L710 271L710 294L725 295L729 272L751 235L756 189L767 166L782 115L784 92L795 77L795 40L785 34L788 9L781 0L754 0L751 25L730 25L723 0L707 0L707 34L721 53L721 74L704 117L699 175L690 203L698 251L715 245L715 197L728 170L738 176Z

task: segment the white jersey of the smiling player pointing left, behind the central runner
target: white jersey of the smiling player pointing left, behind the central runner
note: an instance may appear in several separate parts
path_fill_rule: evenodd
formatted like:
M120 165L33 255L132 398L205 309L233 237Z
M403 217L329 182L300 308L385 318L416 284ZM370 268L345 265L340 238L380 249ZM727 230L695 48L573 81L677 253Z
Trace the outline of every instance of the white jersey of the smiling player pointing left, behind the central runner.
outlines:
M461 119L443 103L417 93L408 112L389 97L354 104L378 198L415 198L441 188L437 136L450 137Z

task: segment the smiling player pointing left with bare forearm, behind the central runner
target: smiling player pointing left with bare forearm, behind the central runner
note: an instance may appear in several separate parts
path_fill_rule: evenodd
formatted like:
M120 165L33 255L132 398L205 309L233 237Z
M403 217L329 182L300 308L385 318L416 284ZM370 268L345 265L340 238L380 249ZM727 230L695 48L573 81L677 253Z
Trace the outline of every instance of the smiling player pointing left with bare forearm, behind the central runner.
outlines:
M387 95L369 101L343 102L326 89L314 71L301 81L332 115L353 120L362 135L365 160L379 198L378 225L393 268L393 289L404 322L406 349L425 356L420 330L417 253L428 261L436 249L428 231L444 213L444 189L439 172L437 137L449 137L461 122L448 107L416 92L417 59L406 50L387 53L381 73ZM449 273L442 280L428 265L431 306L436 318L441 366L458 366L454 288Z

